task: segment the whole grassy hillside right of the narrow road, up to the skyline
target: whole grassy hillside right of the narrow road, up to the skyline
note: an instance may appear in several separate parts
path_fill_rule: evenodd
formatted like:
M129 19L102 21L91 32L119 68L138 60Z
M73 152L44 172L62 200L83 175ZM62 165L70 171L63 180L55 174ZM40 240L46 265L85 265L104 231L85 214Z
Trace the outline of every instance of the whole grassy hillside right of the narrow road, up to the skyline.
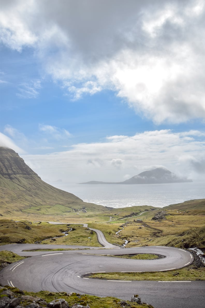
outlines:
M100 229L111 243L121 245L124 240L127 240L126 247L166 245L181 248L198 246L205 249L204 204L205 199L192 200L120 219L118 216L122 217L123 213L129 210L124 208L122 213L112 216L112 221L104 224L92 223L89 226ZM159 211L166 211L164 219L153 220L152 218ZM116 232L122 228L124 229L119 235L116 235Z

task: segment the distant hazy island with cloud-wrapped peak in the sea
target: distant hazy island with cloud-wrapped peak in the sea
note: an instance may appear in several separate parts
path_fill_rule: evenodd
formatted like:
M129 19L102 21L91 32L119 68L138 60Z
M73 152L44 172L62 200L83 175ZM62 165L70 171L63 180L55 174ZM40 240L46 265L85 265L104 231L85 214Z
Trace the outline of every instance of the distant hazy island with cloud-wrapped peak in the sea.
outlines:
M177 176L175 173L166 168L156 168L139 173L132 176L130 179L123 182L102 182L102 181L89 181L78 184L163 184L163 183L183 183L192 182L187 177Z

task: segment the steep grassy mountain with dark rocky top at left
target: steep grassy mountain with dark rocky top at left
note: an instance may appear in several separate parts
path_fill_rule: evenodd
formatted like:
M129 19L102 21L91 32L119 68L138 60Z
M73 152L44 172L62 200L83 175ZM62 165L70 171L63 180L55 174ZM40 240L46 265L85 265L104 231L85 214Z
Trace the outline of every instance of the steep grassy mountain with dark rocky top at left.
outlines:
M0 207L4 217L16 212L62 214L82 207L90 211L107 210L45 183L18 153L4 147L0 147Z

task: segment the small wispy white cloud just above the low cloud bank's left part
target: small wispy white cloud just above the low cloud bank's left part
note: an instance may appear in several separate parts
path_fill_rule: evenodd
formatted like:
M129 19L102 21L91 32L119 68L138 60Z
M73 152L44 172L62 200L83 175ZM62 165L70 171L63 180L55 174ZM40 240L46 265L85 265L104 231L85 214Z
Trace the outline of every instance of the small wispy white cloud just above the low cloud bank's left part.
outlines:
M56 140L67 139L71 134L65 128L58 128L56 126L39 124L39 130L49 138Z

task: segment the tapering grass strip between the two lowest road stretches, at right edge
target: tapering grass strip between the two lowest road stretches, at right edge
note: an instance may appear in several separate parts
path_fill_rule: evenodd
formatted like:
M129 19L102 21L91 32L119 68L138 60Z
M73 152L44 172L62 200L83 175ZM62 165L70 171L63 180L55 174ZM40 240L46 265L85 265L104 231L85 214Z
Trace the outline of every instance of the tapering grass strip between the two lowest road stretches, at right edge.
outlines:
M144 273L95 273L87 274L84 277L98 278L105 280L150 280L150 281L194 281L205 280L205 267L198 269L189 265L179 270L166 272L144 272Z

